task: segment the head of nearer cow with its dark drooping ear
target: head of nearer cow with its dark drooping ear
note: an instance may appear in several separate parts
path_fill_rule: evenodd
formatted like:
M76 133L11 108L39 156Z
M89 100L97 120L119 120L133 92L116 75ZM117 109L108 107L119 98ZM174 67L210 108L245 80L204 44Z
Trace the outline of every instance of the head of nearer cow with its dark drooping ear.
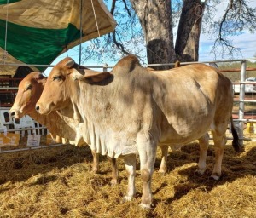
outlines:
M91 71L67 57L49 73L36 110L41 114L61 110L71 104L71 95L79 97L78 89L76 89L79 87L79 80L85 83L99 83L109 76L109 72Z

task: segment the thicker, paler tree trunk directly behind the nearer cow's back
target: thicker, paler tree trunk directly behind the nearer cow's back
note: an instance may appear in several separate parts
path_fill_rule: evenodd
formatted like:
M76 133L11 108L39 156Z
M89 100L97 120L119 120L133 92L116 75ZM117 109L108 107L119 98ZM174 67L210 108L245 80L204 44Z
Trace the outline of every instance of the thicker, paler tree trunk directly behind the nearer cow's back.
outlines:
M176 54L173 45L171 0L130 1L143 27L148 64L174 62ZM168 68L170 66L164 67Z

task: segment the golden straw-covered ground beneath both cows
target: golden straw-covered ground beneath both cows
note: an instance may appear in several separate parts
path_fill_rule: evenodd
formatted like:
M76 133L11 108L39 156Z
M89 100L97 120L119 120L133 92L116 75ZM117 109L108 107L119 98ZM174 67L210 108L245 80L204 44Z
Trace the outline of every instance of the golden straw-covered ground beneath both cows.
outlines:
M2 153L0 217L256 217L256 143L245 142L241 154L226 147L221 181L209 179L212 146L205 175L195 174L198 157L196 142L169 151L169 170L161 175L159 151L152 182L154 208L141 209L139 170L137 197L122 201L127 185L122 159L118 160L119 184L111 186L106 158L101 158L100 174L90 172L89 147Z

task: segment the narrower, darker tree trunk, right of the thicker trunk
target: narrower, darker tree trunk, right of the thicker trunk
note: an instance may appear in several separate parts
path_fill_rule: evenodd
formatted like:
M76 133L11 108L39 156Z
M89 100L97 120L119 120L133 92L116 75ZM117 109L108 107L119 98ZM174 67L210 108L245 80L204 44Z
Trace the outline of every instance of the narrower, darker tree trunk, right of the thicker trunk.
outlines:
M197 61L201 20L205 3L201 0L184 0L180 16L175 52L180 61Z

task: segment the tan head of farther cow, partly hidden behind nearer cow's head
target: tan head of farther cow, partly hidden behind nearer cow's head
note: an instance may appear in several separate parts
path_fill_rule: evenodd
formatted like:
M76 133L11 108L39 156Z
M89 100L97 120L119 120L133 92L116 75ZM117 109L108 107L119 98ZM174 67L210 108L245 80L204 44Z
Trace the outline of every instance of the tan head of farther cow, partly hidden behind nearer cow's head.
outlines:
M43 92L47 77L40 72L31 72L19 84L14 105L9 114L17 119L35 110L35 105Z

